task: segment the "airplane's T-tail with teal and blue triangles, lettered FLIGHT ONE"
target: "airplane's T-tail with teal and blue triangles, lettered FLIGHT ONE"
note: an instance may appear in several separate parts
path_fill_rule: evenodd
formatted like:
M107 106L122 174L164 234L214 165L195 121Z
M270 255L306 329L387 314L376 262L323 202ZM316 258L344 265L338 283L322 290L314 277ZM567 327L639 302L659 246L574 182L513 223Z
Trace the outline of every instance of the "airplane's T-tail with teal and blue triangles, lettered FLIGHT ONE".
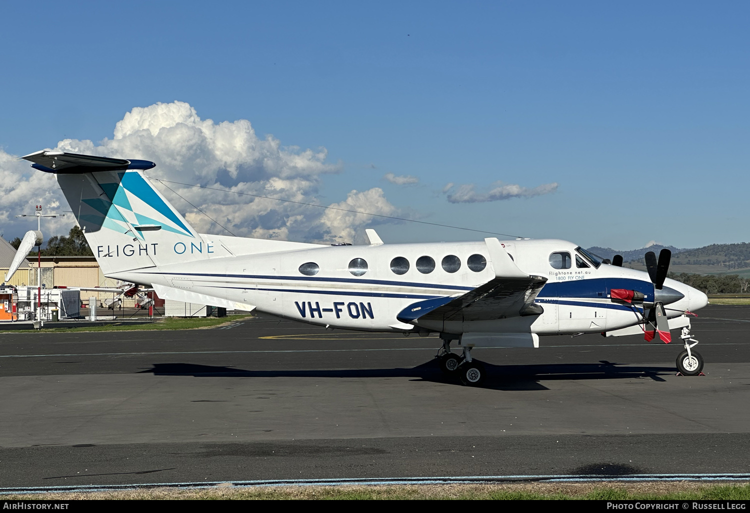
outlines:
M223 256L142 174L153 162L58 151L23 158L57 175L104 275Z

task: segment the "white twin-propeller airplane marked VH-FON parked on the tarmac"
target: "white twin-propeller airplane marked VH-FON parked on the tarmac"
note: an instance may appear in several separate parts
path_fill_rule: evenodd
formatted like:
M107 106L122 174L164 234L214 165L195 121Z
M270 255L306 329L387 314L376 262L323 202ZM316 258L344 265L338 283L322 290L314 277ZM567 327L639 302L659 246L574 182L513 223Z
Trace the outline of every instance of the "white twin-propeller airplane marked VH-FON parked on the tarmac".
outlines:
M671 341L701 374L690 316L706 294L667 278L670 252L648 272L557 239L322 245L197 233L144 175L156 166L62 151L22 157L54 173L102 272L162 299L214 305L366 332L437 333L440 367L466 386L486 377L472 350L539 346L539 335L644 334ZM453 353L454 342L463 351Z

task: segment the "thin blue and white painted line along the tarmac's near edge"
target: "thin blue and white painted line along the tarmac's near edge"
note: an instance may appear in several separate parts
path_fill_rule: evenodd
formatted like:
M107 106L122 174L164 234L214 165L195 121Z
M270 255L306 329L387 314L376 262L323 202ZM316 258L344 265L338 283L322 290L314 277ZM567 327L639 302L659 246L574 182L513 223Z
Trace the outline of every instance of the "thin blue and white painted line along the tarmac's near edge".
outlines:
M81 476L86 477L86 476ZM452 484L502 482L646 482L646 481L748 481L748 473L724 474L630 474L630 475L459 475L413 478L326 478L326 479L262 479L254 481L193 481L148 484L81 484L40 487L2 487L0 495L11 493L96 492L112 490L142 490L151 487L211 488L231 483L235 487L278 486L341 486L344 484Z

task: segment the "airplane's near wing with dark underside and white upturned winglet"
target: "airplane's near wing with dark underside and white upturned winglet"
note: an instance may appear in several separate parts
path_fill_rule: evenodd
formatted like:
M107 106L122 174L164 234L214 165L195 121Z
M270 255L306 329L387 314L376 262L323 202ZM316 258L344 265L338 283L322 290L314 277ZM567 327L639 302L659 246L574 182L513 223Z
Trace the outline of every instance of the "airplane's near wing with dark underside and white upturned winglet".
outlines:
M495 278L463 296L428 299L409 305L398 320L474 321L539 315L544 312L534 303L547 278L520 271L497 239L484 239L495 271Z

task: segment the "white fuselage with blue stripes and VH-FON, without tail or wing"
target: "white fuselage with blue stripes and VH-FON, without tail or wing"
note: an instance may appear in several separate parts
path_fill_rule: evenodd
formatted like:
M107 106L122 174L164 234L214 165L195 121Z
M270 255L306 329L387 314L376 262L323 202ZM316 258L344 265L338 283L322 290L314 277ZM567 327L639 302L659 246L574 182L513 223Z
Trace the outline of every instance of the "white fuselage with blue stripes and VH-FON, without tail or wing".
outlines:
M616 304L607 296L616 288L641 288L652 299L652 284L645 272L602 264L580 266L576 245L556 239L501 241L520 271L547 278L536 303L541 315L508 317L466 323L402 323L397 315L425 299L458 297L495 278L485 242L386 244L368 246L309 245L292 251L211 258L119 272L115 278L141 284L162 285L191 293L254 305L259 311L307 323L341 329L389 332L422 330L460 335L464 332L532 332L556 335L606 332L633 326L639 317L633 307ZM553 253L568 253L568 268L550 264ZM469 269L469 257L481 255L487 265ZM403 274L392 270L401 257L409 263ZM420 266L418 260L431 266ZM443 269L443 259L449 261ZM460 266L456 269L458 257ZM350 272L357 260L354 275ZM474 259L478 260L478 259ZM403 262L403 260L401 261ZM314 275L301 272L304 264L319 269ZM359 267L357 267L359 266ZM310 268L312 266L308 266ZM477 266L475 266L476 269ZM556 267L560 267L559 263ZM359 269L359 271L357 270ZM397 266L397 269L398 266ZM399 272L403 271L403 266ZM451 272L449 272L451 271ZM705 294L667 279L665 287L684 296L667 305L667 316L677 317L706 305ZM650 290L650 292L649 292ZM637 307L636 307L637 308ZM640 309L640 308L639 308Z

